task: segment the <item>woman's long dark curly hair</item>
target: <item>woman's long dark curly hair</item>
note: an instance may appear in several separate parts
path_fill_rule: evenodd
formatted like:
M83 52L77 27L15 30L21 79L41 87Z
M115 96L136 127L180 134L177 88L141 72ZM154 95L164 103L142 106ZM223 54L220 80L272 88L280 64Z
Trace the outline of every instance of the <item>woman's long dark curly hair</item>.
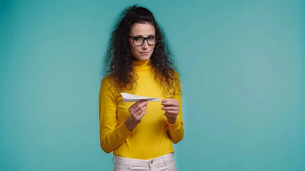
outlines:
M116 19L105 54L104 77L109 75L115 90L120 92L132 91L137 85L137 75L133 71L133 60L137 59L132 55L128 42L130 30L135 23L150 23L159 36L150 57L150 64L152 71L155 72L155 80L163 88L163 93L181 93L179 75L173 65L173 55L163 29L148 9L137 5L124 9Z

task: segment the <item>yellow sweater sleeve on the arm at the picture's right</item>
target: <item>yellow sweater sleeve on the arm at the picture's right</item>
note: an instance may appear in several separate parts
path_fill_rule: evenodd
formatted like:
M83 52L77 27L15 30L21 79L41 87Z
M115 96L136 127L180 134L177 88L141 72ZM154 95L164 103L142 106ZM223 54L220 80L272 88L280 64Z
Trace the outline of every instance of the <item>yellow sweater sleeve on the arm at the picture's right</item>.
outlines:
M178 76L179 78L179 76ZM180 79L179 79L179 86L180 86ZM172 143L177 144L180 142L184 137L184 127L183 127L183 120L182 120L182 99L181 95L174 95L174 99L178 100L179 102L179 114L177 116L177 121L174 124L167 122L168 125L168 134L172 141Z

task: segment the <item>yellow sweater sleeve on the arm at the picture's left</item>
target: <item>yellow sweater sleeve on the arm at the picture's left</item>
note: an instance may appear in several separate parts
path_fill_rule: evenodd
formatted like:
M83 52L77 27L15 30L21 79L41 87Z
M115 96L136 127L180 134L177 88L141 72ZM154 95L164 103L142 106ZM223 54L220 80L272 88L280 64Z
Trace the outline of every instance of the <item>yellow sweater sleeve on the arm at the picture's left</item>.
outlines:
M115 96L102 80L99 93L100 143L106 153L118 148L131 134L124 122L117 122L116 110Z

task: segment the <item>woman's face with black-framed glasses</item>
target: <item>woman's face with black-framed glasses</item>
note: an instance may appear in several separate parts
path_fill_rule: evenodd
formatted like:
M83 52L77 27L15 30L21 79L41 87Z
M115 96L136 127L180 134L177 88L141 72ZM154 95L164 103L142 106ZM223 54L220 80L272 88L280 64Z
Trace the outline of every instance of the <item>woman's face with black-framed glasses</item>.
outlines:
M129 35L132 38L129 38L129 45L131 53L135 58L140 61L145 61L150 58L156 44L155 34L155 27L149 23L135 23L132 26ZM143 40L145 40L144 43Z

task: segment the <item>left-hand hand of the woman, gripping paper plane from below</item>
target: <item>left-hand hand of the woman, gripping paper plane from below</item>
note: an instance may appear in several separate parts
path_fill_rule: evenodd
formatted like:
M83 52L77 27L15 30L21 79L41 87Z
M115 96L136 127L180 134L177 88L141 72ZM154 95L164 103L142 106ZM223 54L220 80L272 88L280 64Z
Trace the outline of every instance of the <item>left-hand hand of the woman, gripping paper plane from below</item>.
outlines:
M147 100L139 100L128 109L130 117L126 119L125 124L130 131L133 131L133 129L141 122L143 116L147 113L147 104Z

